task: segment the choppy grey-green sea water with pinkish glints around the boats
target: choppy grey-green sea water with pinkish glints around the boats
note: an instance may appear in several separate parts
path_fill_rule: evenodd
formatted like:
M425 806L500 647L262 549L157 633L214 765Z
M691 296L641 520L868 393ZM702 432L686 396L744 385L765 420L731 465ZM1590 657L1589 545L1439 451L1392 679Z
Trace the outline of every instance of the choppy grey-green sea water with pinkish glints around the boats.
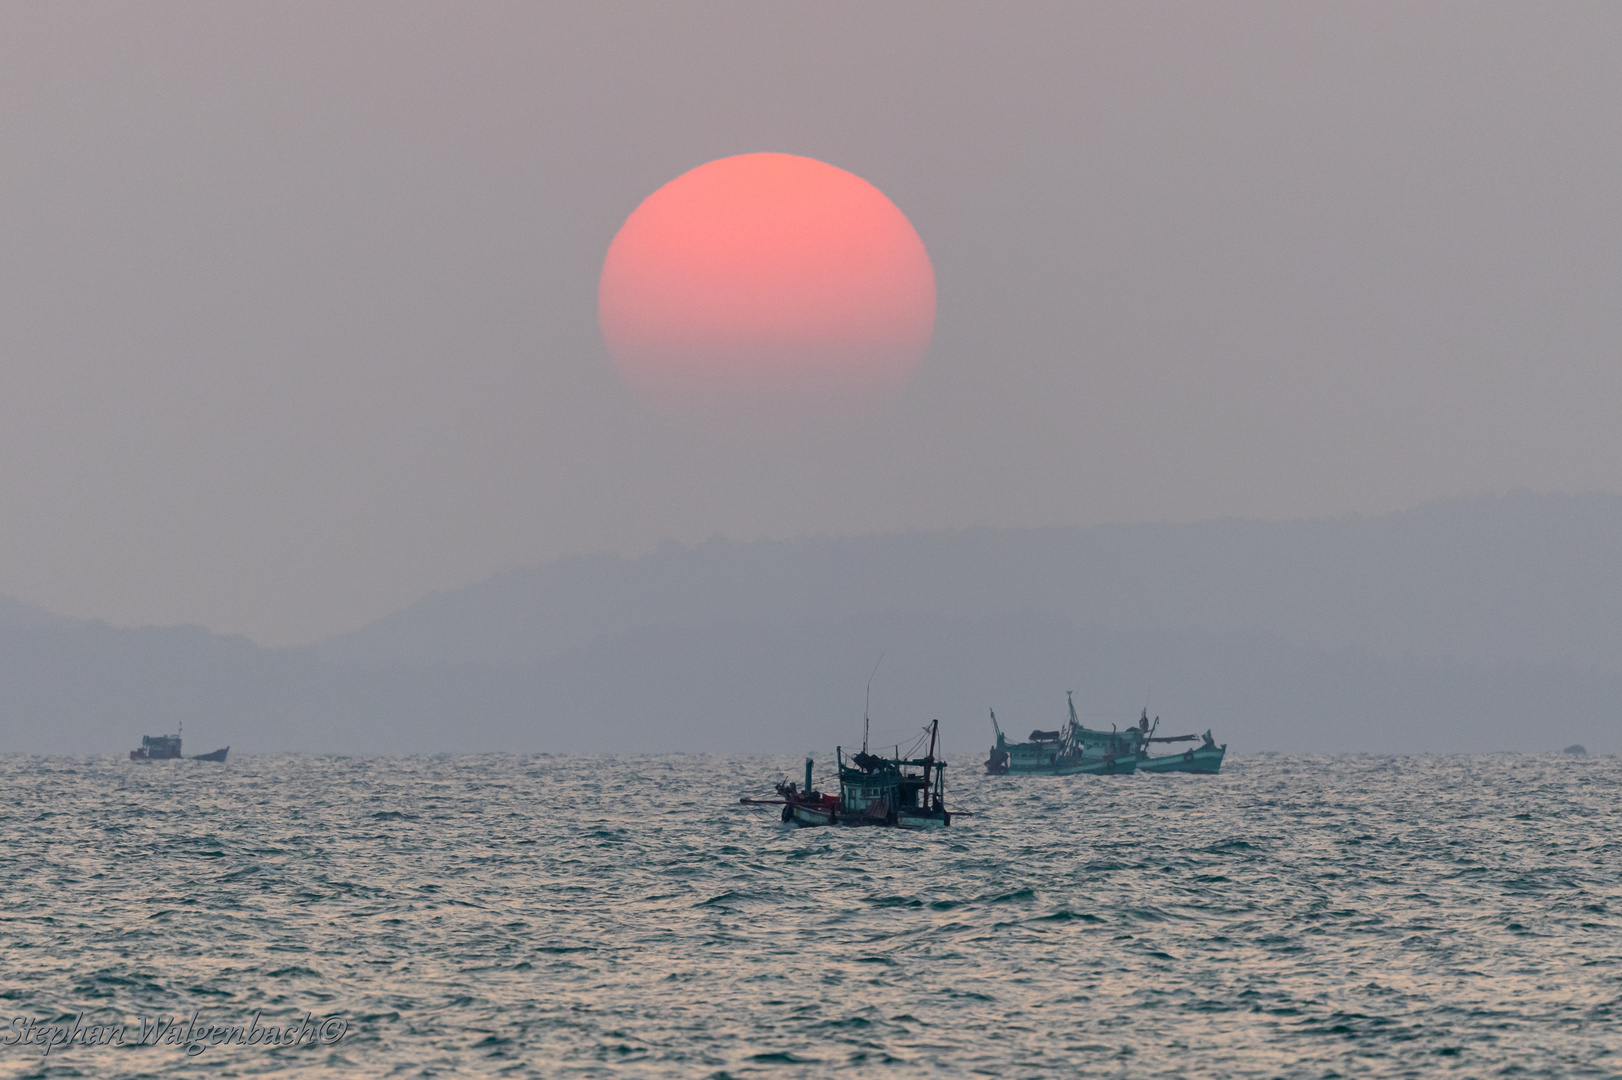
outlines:
M952 764L910 834L738 804L793 757L3 757L0 1075L1622 1075L1617 759ZM255 1014L342 1038L135 1044Z

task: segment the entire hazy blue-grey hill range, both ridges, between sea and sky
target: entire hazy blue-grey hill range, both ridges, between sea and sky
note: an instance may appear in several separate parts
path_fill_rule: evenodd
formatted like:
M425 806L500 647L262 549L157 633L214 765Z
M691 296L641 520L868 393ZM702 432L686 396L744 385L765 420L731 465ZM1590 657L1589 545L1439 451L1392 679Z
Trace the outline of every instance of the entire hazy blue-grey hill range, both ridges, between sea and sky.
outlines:
M1622 751L1622 498L1375 519L670 545L430 597L316 649L0 602L0 749L800 751L941 717L952 761L1147 701L1236 752Z

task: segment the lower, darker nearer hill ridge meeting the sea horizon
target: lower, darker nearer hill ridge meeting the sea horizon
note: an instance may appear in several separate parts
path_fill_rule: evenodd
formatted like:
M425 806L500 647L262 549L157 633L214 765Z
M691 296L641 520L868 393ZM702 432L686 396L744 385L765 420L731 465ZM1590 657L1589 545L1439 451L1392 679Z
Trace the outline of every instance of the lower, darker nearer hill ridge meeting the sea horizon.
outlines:
M1096 726L1145 702L1166 730L1215 728L1234 754L1622 751L1622 676L1387 660L1275 639L1135 634L1046 613L865 615L704 629L644 626L534 665L324 662L201 628L96 623L0 632L0 752L114 754L185 726L232 754L827 754L942 720L955 767L1051 728L1064 691Z

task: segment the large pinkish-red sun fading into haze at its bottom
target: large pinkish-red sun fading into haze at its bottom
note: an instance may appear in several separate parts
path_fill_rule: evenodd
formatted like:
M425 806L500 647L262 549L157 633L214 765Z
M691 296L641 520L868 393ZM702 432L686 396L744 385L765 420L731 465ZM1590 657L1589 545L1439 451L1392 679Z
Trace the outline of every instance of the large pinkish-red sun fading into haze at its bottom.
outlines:
M657 404L868 399L934 329L934 269L876 186L821 161L740 154L654 191L597 285L616 366Z

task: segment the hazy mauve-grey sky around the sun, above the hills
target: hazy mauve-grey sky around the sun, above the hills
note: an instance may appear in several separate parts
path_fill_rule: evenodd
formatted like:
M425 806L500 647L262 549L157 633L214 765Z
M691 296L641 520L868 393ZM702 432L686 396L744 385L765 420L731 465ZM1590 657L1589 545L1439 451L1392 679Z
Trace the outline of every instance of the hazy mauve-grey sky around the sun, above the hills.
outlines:
M1622 5L6 3L0 594L266 644L660 538L1622 491ZM882 188L934 345L649 414L595 285L709 159Z

